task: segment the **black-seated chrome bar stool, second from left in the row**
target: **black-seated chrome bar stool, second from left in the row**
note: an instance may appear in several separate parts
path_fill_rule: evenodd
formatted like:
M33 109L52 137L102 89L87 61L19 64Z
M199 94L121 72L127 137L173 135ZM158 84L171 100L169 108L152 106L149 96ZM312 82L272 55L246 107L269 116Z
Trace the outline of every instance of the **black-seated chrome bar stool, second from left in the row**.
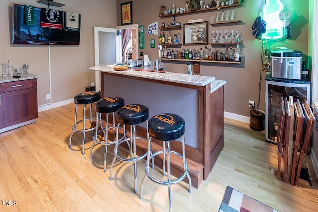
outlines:
M104 172L107 171L107 166L106 166L106 160L107 160L107 149L109 145L112 145L115 143L116 139L116 124L115 124L115 112L123 107L125 105L125 100L120 97L105 97L103 99L100 99L96 102L96 126L101 126L101 130L98 130L98 127L96 128L96 133L93 136L93 145L90 149L90 159L93 158L93 148L95 145L100 144L105 146L105 154L104 154ZM105 128L103 128L103 120L102 120L102 113L106 113L105 117ZM108 126L108 116L109 114L113 115L113 126ZM98 124L98 121L100 122ZM114 135L114 140L113 141L108 141L108 130L113 130L113 135ZM104 133L104 140L103 139L98 139L99 133L103 132ZM126 135L126 131L124 129L124 136Z

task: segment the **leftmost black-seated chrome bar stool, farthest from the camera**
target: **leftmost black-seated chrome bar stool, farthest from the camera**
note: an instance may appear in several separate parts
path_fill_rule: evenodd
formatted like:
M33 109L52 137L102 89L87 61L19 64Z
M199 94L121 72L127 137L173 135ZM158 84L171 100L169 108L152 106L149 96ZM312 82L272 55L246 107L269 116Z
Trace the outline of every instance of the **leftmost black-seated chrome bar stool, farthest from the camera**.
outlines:
M98 101L100 99L100 93L95 92L95 91L89 91L89 92L83 92L79 93L78 95L74 96L74 103L75 105L75 115L74 115L74 125L72 126L72 134L70 136L70 141L69 141L69 147L71 148L71 140L74 132L79 132L83 133L83 145L82 145L82 154L85 154L85 134L86 132L93 131L96 129L96 126L93 126L93 117L92 117L92 109L91 109L91 104ZM86 118L85 112L86 112L86 105L90 105L90 117ZM78 106L79 105L84 105L83 107L83 119L77 121L77 113L78 113ZM86 121L90 121L91 126L90 128L86 128ZM77 125L79 123L83 123L83 128L79 129L77 128Z

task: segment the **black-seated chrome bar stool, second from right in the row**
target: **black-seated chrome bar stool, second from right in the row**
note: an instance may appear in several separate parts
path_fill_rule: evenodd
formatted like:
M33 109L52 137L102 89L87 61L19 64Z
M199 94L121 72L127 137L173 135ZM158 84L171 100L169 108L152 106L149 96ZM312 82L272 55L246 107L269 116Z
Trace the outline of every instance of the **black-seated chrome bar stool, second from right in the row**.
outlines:
M140 104L133 104L133 105L125 105L117 111L117 129L116 129L116 140L115 140L115 148L114 148L114 158L110 167L110 177L109 179L113 179L113 166L115 160L118 159L123 162L134 162L134 171L135 171L135 182L134 182L134 192L137 193L137 166L136 162L141 160L147 156L147 152L143 155L136 155L136 139L141 141L146 141L146 138L137 137L136 135L136 124L140 124L143 122L147 122L149 117L149 109L148 107ZM118 140L118 129L120 124L123 125L130 125L130 137L123 139L121 141ZM148 134L148 132L147 132ZM147 135L148 138L148 135ZM128 142L129 147L129 155L128 158L123 158L122 156L118 155L118 146L122 143Z

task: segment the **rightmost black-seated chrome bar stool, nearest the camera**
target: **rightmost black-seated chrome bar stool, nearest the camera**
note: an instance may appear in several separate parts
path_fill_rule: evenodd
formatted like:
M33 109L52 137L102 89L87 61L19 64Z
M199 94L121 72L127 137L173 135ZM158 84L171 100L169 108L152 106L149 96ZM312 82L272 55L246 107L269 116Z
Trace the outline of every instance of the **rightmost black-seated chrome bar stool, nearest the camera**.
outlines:
M148 138L148 149L147 149L147 161L145 164L145 176L142 180L141 186L140 186L140 199L143 199L143 184L146 180L146 177L149 177L152 181L155 183L161 184L161 185L167 185L169 189L169 211L172 211L172 200L171 200L171 185L179 183L182 181L185 176L188 177L189 180L189 192L191 193L191 177L188 173L188 163L185 159L185 141L184 141L184 119L176 114L172 113L164 113L164 114L158 114L156 116L153 116L148 121L148 131L150 137ZM182 137L182 154L171 151L170 150L170 140L175 140ZM163 150L153 152L150 154L151 147L151 139L155 138L163 142ZM167 150L166 150L167 148ZM167 155L167 181L158 180L155 178L155 176L152 176L149 173L149 161L150 159L153 159L156 155L163 154L163 168L162 168L162 174L165 176L165 156ZM184 173L174 179L171 180L171 165L170 165L170 154L175 154L183 159L183 169Z

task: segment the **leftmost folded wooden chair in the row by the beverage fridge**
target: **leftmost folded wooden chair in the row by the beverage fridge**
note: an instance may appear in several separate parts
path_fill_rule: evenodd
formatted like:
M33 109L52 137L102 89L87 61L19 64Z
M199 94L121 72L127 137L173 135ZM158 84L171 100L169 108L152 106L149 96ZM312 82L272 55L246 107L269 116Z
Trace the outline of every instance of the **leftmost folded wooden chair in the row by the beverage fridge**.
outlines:
M277 179L280 179L280 166L282 161L283 154L283 132L285 124L285 105L283 97L280 97L279 103L279 116L278 116L278 125L277 125L277 155L278 155L278 164L277 164Z

